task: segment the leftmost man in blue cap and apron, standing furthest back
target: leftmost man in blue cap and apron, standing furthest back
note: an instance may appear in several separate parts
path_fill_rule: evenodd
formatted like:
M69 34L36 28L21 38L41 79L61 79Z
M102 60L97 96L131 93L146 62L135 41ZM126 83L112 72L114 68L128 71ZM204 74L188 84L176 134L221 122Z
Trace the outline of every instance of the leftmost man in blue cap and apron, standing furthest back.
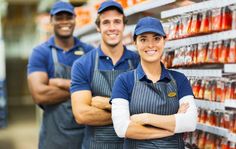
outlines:
M43 109L39 149L80 149L84 126L72 114L70 72L73 62L93 47L73 37L71 4L56 2L50 14L54 36L33 49L28 64L29 89Z

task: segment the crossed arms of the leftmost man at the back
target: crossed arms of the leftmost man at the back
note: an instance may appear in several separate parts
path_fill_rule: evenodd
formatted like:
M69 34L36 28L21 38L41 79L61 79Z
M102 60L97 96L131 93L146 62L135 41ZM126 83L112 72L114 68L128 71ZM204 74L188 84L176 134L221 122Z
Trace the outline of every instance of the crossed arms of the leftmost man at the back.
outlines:
M36 104L55 104L70 97L70 80L68 79L49 79L45 72L33 72L28 75L27 79L29 90Z

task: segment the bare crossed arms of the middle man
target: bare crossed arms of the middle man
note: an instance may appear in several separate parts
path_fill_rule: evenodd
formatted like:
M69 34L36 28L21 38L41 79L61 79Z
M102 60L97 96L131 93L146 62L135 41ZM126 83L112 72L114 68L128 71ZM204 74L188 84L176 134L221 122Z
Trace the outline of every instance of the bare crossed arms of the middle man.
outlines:
M89 90L76 91L71 94L72 112L79 124L103 126L112 124L109 98L92 97Z

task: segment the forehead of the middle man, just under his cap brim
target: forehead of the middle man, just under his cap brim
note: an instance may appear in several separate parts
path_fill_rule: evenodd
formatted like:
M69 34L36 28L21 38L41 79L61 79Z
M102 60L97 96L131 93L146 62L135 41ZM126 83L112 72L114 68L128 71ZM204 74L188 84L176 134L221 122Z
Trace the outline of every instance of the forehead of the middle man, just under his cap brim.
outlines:
M122 19L123 15L116 9L113 10L106 10L100 14L100 20L107 20L107 19Z

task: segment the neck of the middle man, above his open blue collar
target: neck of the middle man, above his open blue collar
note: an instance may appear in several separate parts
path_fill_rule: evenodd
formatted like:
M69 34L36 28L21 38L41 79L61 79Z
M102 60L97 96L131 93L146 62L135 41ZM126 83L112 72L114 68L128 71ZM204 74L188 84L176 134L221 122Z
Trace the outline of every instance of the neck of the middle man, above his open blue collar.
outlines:
M118 60L122 57L124 52L124 47L122 43L116 46L109 46L104 42L102 42L101 49L106 56L109 56L112 59L113 65L115 65L118 62Z

